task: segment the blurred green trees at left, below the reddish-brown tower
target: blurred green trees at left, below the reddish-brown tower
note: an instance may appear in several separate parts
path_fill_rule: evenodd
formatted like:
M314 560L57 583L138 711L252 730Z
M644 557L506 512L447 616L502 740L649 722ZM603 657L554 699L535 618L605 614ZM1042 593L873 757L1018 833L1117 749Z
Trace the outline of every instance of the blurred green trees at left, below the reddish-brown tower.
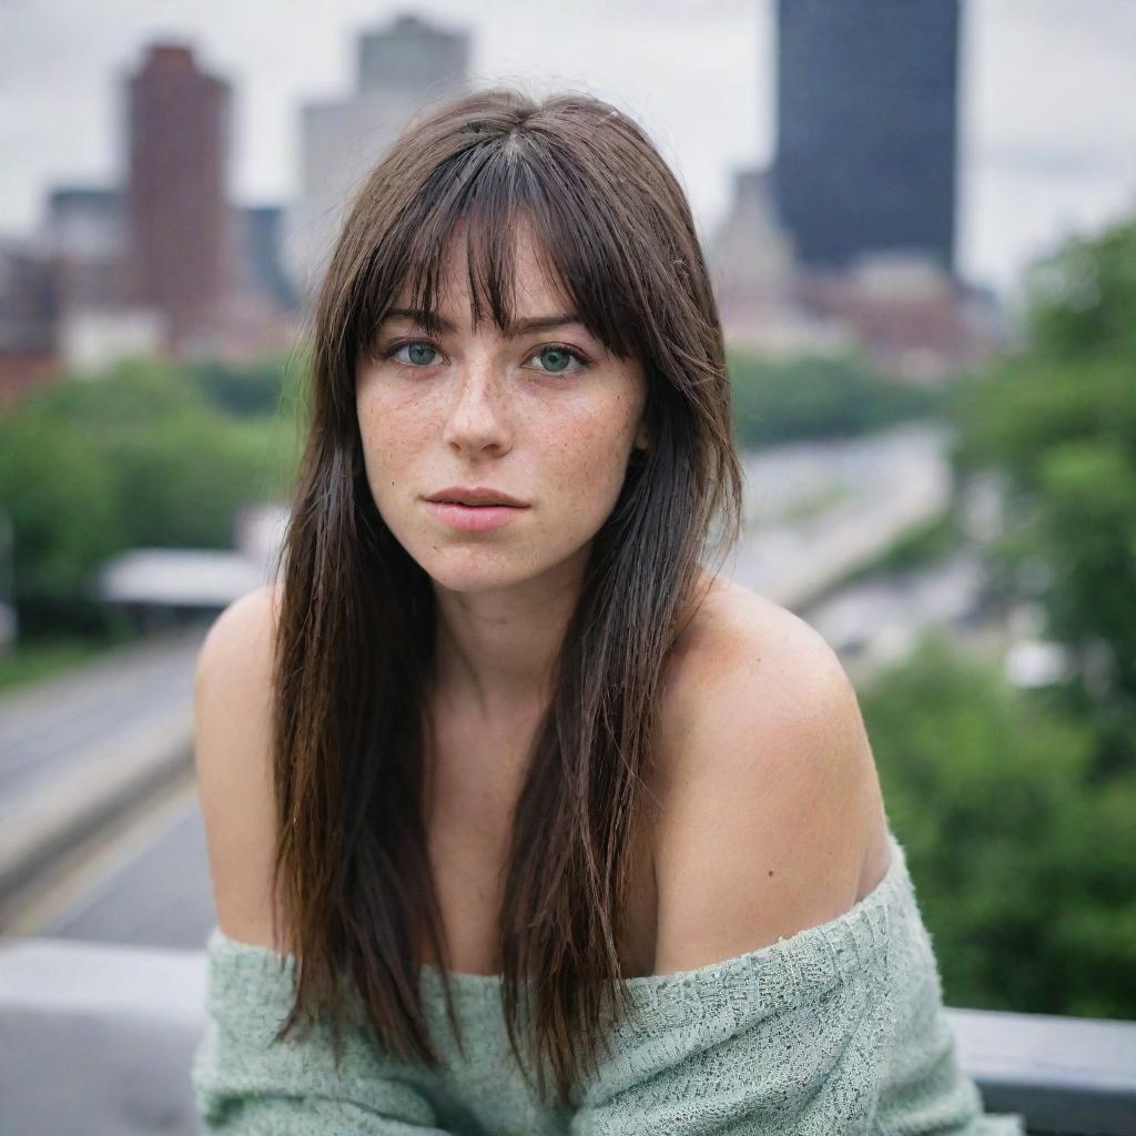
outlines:
M28 393L0 419L17 609L74 598L128 548L231 548L236 510L285 493L295 460L287 418L226 416L158 360Z

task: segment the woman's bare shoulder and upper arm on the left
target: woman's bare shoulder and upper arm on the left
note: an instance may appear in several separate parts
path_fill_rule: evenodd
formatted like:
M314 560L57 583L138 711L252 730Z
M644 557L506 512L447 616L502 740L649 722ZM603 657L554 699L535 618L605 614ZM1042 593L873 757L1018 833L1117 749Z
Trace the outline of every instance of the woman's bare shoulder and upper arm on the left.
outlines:
M231 938L277 949L270 895L278 601L278 590L264 585L214 620L198 653L193 693L193 753L217 922Z

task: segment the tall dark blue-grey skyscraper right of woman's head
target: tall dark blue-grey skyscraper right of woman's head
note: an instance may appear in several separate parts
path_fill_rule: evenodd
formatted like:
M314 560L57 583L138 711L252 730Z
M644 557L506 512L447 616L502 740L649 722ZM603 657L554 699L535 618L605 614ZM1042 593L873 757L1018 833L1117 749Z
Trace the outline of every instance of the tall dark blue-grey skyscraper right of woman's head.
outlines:
M961 0L778 0L774 194L797 256L953 272Z

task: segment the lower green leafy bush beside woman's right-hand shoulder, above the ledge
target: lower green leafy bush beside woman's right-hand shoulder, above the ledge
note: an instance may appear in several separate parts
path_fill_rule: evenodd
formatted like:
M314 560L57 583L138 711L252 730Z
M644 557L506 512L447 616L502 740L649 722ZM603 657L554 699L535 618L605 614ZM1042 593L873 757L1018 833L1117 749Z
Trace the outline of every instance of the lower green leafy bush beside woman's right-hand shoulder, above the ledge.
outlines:
M1136 771L1085 719L926 636L860 691L949 1004L1130 1017Z

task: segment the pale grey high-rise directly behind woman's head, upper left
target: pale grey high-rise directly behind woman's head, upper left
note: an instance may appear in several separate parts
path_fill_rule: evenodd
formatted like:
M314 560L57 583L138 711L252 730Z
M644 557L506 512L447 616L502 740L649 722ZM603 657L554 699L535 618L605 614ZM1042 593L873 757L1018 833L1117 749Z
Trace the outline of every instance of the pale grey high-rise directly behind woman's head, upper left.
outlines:
M284 224L284 267L302 299L318 285L352 192L415 114L467 80L469 35L402 15L359 37L356 90L309 103L299 192Z

